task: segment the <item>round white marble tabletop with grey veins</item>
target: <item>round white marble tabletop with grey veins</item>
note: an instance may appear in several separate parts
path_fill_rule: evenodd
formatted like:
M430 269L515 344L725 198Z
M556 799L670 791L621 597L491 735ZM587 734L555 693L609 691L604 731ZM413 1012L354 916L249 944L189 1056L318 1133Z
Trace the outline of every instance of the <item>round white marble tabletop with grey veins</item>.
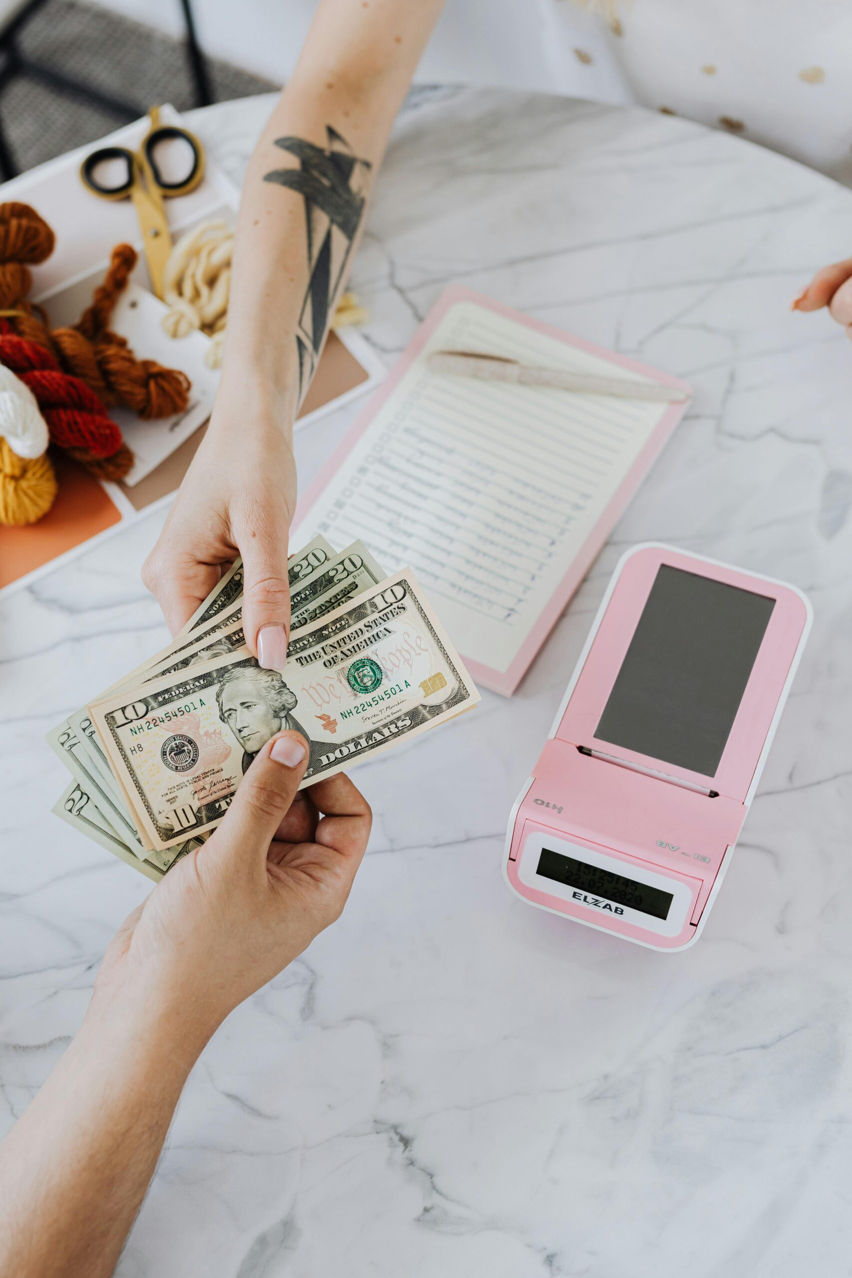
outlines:
M268 100L197 118L239 176ZM643 111L420 93L355 285L388 362L447 281L687 377L695 405L511 700L358 780L342 920L195 1068L123 1278L849 1273L852 348L791 314L852 193ZM299 437L303 482L353 412ZM166 639L160 518L0 608L0 1128L77 1029L148 883L50 815L42 734ZM703 938L660 955L499 872L604 583L660 539L787 578L816 622Z

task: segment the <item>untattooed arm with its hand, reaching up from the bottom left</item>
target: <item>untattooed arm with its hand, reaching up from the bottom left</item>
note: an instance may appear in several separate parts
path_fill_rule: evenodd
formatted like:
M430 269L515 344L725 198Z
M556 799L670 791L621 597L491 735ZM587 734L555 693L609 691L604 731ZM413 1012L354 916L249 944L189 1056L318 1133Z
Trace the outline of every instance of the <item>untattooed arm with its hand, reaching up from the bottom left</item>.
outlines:
M126 919L83 1026L0 1145L0 1274L109 1278L186 1075L217 1025L346 901L370 828L339 774L296 794L294 732Z

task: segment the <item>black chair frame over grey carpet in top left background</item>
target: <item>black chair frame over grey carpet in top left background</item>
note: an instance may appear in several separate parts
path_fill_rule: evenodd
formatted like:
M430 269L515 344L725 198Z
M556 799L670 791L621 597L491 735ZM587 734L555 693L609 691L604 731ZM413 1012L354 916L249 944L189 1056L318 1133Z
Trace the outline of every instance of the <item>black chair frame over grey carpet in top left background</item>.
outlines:
M114 97L111 93L105 93L93 84L86 84L83 81L74 79L74 77L66 75L56 66L40 63L20 51L18 36L29 19L46 4L47 0L0 0L0 95L15 77L27 75L29 79L40 81L42 84L47 84L50 88L59 89L63 93L82 97L93 106L98 106L101 110L115 115L119 120L138 120L141 115L144 115L151 105L149 102L141 105ZM195 35L190 0L180 0L180 8L184 18L186 56L193 79L195 105L208 106L213 101L213 97L207 63ZM6 139L3 115L0 112L0 179L14 178L17 173L18 166Z

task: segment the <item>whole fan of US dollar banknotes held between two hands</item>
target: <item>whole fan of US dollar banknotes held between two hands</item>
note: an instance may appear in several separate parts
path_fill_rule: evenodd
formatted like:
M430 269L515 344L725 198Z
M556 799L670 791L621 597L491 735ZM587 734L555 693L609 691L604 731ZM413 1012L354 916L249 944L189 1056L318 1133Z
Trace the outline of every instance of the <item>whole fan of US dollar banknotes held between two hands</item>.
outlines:
M479 700L409 569L323 537L287 566L284 670L245 647L238 560L166 648L47 734L73 777L52 810L148 878L212 833L276 732L307 739L310 785Z

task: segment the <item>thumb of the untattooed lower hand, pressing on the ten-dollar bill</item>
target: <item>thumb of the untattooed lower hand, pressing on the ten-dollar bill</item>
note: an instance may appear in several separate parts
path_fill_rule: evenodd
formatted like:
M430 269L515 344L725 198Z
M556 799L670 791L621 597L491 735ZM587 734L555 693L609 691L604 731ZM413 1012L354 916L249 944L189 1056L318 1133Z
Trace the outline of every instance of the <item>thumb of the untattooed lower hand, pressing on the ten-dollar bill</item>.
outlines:
M298 732L280 732L263 746L211 840L227 852L257 854L266 864L272 837L296 796L308 766L308 745Z

